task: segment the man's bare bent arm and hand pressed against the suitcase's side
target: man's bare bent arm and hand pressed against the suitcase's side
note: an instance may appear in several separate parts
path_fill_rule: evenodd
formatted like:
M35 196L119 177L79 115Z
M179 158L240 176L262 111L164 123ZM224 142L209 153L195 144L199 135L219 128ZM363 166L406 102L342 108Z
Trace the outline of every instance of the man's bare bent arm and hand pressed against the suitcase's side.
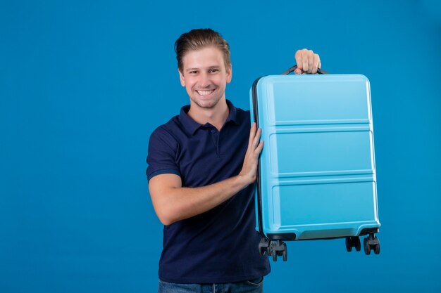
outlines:
M257 162L263 148L261 129L254 123L240 174L197 188L182 187L180 176L156 175L149 181L151 202L161 223L170 225L213 209L256 180ZM260 141L260 142L259 142Z

